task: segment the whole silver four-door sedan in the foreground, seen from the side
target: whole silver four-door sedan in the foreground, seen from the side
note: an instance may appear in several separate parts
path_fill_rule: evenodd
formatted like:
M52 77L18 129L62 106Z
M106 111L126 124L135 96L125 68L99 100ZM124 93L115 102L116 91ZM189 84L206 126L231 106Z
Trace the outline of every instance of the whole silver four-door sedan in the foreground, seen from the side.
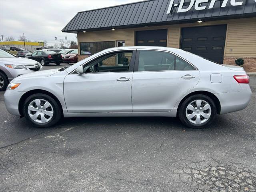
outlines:
M180 49L118 47L69 68L15 78L7 110L38 127L64 117L166 116L202 128L216 114L246 108L252 94L241 67L224 66Z

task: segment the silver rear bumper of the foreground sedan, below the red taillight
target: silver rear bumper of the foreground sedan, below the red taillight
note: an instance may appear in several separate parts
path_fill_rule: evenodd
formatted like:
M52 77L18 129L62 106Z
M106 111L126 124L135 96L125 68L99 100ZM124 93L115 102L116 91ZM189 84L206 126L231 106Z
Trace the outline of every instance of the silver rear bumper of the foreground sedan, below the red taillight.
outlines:
M220 114L240 111L245 109L252 95L249 84L240 84L240 92L228 92L215 94L220 101Z

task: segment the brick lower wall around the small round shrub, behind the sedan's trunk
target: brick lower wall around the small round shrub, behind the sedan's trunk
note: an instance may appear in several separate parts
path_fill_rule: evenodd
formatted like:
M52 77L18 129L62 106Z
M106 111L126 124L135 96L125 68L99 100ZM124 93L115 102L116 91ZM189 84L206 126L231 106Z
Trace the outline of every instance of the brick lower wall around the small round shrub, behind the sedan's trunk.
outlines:
M256 72L256 57L224 57L223 63L236 65L235 60L242 58L244 60L244 70L246 72Z

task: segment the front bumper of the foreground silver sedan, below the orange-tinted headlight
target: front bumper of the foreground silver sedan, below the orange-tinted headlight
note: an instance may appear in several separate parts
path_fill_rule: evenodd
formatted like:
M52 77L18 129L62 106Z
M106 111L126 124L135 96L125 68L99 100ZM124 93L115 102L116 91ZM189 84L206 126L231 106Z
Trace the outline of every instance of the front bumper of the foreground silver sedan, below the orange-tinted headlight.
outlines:
M6 106L7 111L10 114L20 116L19 101L24 93L26 93L26 92L16 91L15 89L5 91L4 104Z

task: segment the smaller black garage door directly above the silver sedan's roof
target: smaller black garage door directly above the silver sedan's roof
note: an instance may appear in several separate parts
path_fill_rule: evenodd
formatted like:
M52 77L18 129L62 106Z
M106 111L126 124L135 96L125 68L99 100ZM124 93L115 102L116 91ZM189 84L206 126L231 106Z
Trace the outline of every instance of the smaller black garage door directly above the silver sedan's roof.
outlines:
M167 29L136 31L137 46L167 46Z

